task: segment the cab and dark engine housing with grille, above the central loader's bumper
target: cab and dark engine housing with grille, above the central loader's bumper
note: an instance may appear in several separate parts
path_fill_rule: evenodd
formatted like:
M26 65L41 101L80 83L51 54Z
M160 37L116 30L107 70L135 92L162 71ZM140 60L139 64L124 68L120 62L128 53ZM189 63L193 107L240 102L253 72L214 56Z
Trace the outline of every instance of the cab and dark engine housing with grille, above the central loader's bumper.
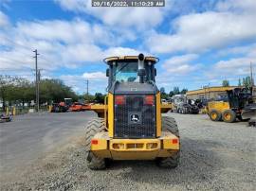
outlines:
M106 102L110 103L108 111L115 110L107 119L108 127L113 128L110 137L160 136L160 125L156 127L156 121L160 123L160 93L155 85L157 61L143 54L105 59L109 66Z

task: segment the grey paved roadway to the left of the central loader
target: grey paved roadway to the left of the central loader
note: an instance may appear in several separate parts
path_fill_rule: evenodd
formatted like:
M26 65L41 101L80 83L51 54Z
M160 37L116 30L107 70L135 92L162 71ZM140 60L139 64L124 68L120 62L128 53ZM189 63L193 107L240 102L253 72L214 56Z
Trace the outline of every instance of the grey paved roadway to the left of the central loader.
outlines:
M0 123L0 172L13 173L82 134L93 112L29 113Z

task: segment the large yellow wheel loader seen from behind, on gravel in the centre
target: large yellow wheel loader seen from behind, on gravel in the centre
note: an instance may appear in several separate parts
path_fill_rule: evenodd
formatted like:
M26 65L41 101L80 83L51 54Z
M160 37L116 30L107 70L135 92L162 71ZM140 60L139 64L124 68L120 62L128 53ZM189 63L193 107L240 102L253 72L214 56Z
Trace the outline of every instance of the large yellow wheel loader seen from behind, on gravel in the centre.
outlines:
M91 106L99 118L86 127L87 165L103 169L111 160L155 160L162 167L176 167L180 158L179 132L174 118L162 116L155 85L155 57L111 57L108 95L104 105Z

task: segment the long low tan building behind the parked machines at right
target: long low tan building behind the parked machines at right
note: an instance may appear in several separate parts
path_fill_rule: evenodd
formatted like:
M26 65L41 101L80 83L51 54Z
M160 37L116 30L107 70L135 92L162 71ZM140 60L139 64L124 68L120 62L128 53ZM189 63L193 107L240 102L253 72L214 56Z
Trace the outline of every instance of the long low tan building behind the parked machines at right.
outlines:
M187 92L186 96L189 99L193 99L193 100L195 100L195 99L216 99L221 96L225 96L227 90L232 90L237 87L238 86L205 87L203 89L189 91L189 92Z

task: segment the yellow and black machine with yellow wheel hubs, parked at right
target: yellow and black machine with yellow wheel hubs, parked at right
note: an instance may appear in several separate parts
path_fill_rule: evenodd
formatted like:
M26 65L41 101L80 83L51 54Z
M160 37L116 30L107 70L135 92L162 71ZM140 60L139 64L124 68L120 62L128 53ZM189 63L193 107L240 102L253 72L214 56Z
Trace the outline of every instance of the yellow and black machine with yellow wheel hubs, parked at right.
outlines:
M252 93L249 89L234 88L227 91L226 97L208 102L207 110L212 121L223 120L224 122L232 123L236 119L247 119L248 113L252 113L252 108L250 108L252 105Z

